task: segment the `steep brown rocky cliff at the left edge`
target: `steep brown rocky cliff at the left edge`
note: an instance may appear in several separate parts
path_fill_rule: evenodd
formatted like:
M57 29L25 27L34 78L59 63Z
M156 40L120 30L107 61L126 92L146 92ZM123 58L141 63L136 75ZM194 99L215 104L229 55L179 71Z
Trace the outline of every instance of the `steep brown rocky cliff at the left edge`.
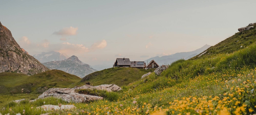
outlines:
M17 72L34 75L49 69L28 55L0 22L0 72Z

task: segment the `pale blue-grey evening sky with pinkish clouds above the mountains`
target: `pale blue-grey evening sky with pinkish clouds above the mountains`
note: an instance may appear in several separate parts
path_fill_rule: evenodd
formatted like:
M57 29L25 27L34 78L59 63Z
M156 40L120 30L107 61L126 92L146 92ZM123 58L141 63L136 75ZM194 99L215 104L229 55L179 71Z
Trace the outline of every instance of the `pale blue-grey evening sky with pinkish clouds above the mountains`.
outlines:
M30 55L57 51L89 65L215 45L256 22L255 0L0 0L0 21Z

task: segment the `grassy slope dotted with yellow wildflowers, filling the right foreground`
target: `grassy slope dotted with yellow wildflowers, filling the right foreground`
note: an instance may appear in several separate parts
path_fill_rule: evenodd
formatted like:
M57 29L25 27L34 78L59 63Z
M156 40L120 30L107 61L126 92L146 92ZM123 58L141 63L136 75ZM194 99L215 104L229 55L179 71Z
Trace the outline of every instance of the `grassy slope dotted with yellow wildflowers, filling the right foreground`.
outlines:
M169 65L161 75L152 73L128 86L122 86L123 90L119 92L77 90L80 93L87 92L102 96L103 100L88 103L68 103L52 97L34 102L24 100L19 104L8 103L1 108L0 113L31 115L42 113L68 115L256 114L256 30L250 31L247 31L250 33L235 34L234 36L237 37L233 39L228 38L229 42L236 42L236 39L245 41L240 44L236 42L238 45L234 47L230 45L228 50L232 49L232 51L221 51L223 48L221 46L218 53L212 55L178 60ZM250 36L246 39L240 38L245 34ZM237 47L241 45L245 47ZM77 108L49 111L36 108L48 104L72 104Z

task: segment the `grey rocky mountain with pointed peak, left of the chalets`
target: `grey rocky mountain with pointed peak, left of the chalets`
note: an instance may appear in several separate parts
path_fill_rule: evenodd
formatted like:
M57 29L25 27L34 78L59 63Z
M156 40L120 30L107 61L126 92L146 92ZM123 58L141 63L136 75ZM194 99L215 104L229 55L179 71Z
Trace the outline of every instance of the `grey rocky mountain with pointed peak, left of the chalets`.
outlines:
M71 56L66 60L62 61L51 61L42 63L46 67L50 68L51 70L61 70L64 72L67 72L69 74L73 74L76 76L79 76L83 78L84 76L96 72L97 70L94 70L91 68L88 64L84 64L81 62L77 56Z

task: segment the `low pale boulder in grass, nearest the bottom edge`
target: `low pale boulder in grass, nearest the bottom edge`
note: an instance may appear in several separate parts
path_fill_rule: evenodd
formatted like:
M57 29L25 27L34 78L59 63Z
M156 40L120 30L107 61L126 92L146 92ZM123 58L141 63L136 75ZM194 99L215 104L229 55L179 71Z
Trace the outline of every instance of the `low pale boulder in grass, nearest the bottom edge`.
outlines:
M74 105L61 105L61 106L56 106L56 105L43 105L41 107L37 107L38 109L44 109L45 111L48 110L69 110L69 109L75 109L76 106ZM48 114L48 113L45 113Z

